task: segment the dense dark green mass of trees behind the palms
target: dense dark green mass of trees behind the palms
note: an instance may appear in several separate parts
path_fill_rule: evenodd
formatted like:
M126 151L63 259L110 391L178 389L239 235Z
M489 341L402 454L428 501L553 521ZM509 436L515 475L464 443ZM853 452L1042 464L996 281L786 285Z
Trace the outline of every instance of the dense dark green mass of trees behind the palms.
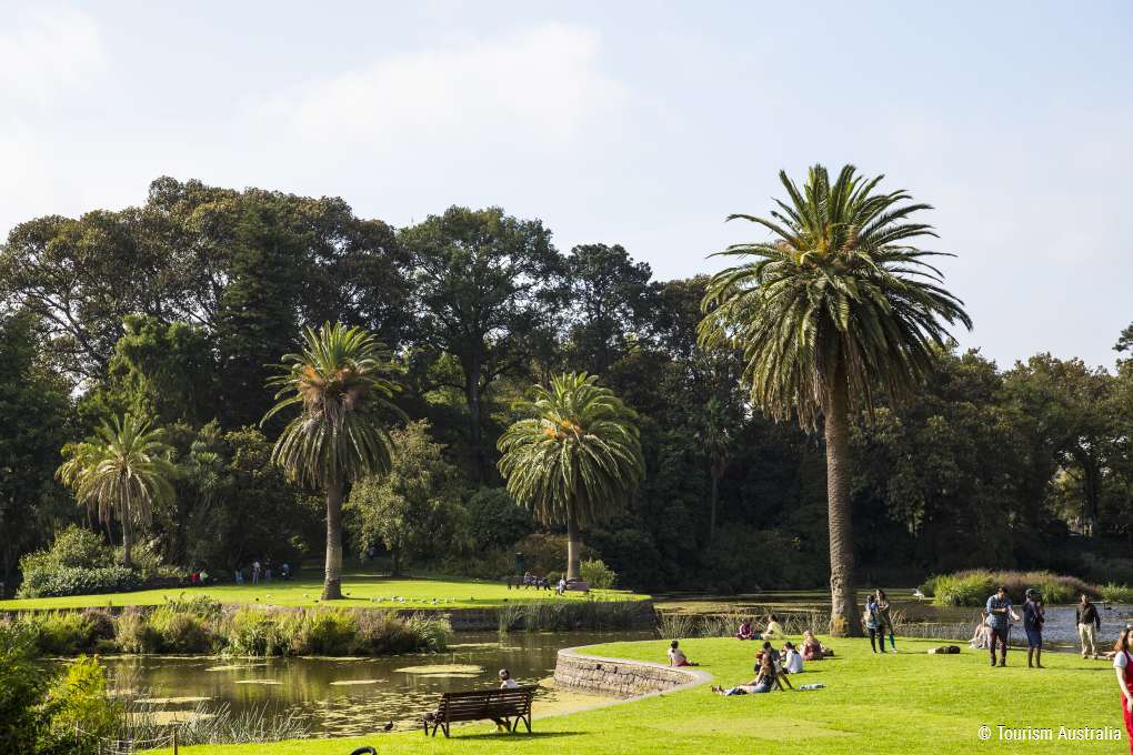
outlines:
M639 429L640 483L587 532L623 585L828 578L826 443L765 419L740 379L750 354L698 343L709 278L657 281L616 239L562 254L537 218L501 208L394 230L333 197L161 178L143 199L31 218L0 247L6 591L68 525L121 546L117 518L108 531L53 473L65 445L127 412L162 429L177 467L138 523L139 563L227 575L323 560L326 491L270 463L293 415L254 426L272 406L266 366L327 320L387 344L404 385L384 427L407 453L342 497L381 489L409 514L383 526L431 532L351 525L348 558L374 544L381 568L397 547L402 568L493 578L517 550L561 563L565 526L501 487L496 440L533 383L588 370ZM1049 354L997 366L945 343L927 345L932 367L904 401L867 377L874 415L847 424L849 506L868 523L851 535L854 581L988 566L1133 584L1133 346L1114 337L1111 370Z

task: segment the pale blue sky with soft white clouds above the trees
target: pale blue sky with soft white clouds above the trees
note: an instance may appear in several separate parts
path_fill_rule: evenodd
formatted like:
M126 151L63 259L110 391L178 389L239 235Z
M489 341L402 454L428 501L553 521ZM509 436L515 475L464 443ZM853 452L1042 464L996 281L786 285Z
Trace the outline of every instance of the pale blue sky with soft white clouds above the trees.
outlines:
M502 206L668 280L765 239L725 217L766 214L781 169L852 163L935 207L962 346L1111 369L1131 32L1100 0L0 0L0 234L172 175L397 226Z

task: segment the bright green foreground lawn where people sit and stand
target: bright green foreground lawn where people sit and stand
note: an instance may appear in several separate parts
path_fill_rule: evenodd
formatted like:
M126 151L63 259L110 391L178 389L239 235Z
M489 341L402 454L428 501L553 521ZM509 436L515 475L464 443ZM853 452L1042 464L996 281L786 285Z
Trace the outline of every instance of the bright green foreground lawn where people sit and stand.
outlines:
M1048 653L1049 668L1029 670L1012 651L1011 666L989 668L983 652L928 655L932 641L898 640L901 653L875 655L866 640L833 643L838 657L811 663L794 684L825 689L719 697L701 686L622 705L537 719L535 733L497 735L494 727L468 726L450 740L419 730L272 745L181 748L185 755L343 755L373 745L383 755L437 753L525 755L573 753L1107 753L1128 752L1122 741L1058 740L1058 728L1122 728L1118 694L1109 663ZM614 643L587 649L596 655L664 659L664 641ZM701 669L724 685L751 677L753 643L689 640L682 643ZM538 707L536 707L538 714ZM979 729L993 728L989 741ZM1051 727L1054 741L1000 741L996 724ZM400 726L410 726L402 722ZM1124 730L1122 731L1124 739ZM169 750L157 750L168 754Z

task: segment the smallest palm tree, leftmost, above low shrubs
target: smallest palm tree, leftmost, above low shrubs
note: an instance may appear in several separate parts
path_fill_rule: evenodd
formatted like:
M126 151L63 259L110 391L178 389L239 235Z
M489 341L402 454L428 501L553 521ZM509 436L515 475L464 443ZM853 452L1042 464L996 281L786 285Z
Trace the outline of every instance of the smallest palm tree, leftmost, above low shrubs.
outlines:
M177 467L169 461L171 451L161 441L159 428L129 413L104 422L91 440L63 448L68 458L56 477L79 504L95 509L101 522L109 525L118 516L126 568L134 565L134 526L150 523L154 504L173 499Z

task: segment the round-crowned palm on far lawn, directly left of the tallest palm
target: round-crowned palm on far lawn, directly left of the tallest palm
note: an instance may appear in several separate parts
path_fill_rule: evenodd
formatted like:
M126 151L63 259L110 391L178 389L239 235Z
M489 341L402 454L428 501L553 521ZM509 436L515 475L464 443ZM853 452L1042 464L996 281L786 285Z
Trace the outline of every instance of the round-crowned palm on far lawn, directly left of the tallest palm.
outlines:
M637 414L597 377L569 372L535 386L527 415L500 438L508 492L544 524L566 525L566 577L579 575L581 527L623 505L645 478Z

